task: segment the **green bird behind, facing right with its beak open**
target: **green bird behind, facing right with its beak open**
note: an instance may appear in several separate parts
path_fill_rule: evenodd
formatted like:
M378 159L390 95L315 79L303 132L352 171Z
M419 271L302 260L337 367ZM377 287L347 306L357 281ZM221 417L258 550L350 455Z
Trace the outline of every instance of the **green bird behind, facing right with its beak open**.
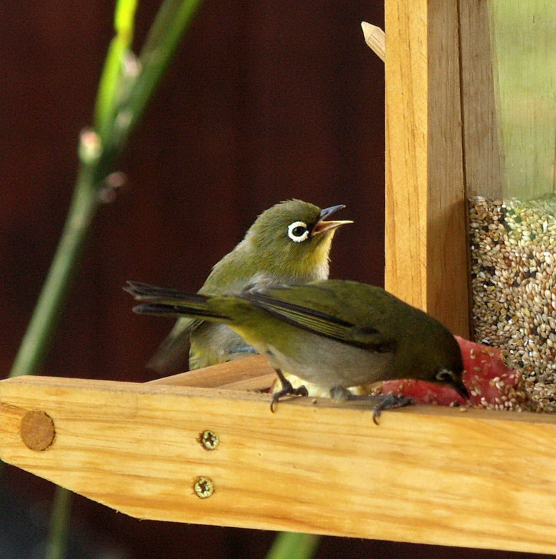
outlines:
M344 207L320 209L301 200L275 204L261 213L243 241L215 264L199 293L240 293L253 286L325 280L334 233L341 225L352 223L326 218ZM256 352L223 323L179 318L147 366L162 375L174 373L188 353L193 370Z

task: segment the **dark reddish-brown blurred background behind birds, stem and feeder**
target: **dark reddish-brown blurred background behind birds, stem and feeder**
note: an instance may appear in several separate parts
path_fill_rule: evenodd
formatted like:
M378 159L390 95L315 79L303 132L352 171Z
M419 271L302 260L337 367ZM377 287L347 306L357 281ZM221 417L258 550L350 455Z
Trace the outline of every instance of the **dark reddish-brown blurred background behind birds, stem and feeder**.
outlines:
M1 374L8 374L54 253L91 122L113 3L4 0L0 21ZM158 8L142 0L140 44ZM120 164L44 374L143 382L171 323L131 313L129 279L196 290L263 209L289 197L346 204L334 277L382 284L384 65L362 20L383 0L207 0ZM42 557L53 487L11 467L0 556ZM377 515L380 511L376 511ZM8 521L8 518L10 519ZM5 520L6 519L6 520ZM273 533L138 521L76 497L70 556L261 558ZM327 537L318 558L534 557ZM537 556L541 557L541 556Z

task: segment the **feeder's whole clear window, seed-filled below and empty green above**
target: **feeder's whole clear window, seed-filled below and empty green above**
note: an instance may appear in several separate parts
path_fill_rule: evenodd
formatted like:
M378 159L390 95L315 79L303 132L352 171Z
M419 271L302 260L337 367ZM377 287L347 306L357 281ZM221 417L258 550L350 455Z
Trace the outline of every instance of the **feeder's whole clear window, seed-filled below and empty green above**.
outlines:
M507 352L539 407L554 410L556 3L491 0L489 8L501 177L469 199L473 330Z

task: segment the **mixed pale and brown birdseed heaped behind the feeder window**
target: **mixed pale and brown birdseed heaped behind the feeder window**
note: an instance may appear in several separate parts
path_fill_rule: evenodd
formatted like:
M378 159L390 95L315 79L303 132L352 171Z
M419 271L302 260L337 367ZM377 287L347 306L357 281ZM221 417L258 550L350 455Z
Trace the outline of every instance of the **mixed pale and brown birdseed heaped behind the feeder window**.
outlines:
M475 341L504 351L531 409L554 412L556 197L472 197L469 227Z

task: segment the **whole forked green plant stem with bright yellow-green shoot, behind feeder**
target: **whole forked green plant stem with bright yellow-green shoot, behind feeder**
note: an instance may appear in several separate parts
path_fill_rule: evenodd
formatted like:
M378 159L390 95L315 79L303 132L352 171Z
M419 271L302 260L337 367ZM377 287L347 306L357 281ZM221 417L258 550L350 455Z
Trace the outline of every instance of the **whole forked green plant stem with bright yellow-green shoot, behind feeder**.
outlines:
M116 37L108 49L95 105L95 132L81 136L81 165L62 236L47 279L15 357L10 377L40 371L58 325L72 277L81 261L99 191L136 128L156 86L172 60L179 40L201 0L164 0L139 56L138 75L126 75L124 61L133 38L136 0L118 0ZM125 95L124 95L125 94ZM120 97L124 95L122 99ZM1 464L1 463L0 463ZM72 493L56 487L47 559L62 559L67 548Z

